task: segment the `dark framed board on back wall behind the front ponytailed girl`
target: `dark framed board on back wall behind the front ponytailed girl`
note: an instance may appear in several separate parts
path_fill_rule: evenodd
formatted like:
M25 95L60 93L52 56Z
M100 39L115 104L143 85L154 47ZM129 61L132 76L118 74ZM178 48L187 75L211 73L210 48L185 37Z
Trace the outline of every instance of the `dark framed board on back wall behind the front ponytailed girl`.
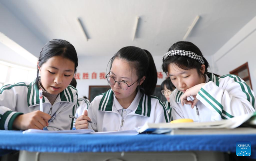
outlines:
M110 86L109 85L90 85L89 86L89 100L90 102L93 101L93 99L102 94L102 93L105 93L107 92L108 90L110 89ZM166 101L166 98L161 94L161 87L160 85L157 85L156 86L156 89L154 91L154 94L155 96L157 96L159 99L161 99L162 101Z

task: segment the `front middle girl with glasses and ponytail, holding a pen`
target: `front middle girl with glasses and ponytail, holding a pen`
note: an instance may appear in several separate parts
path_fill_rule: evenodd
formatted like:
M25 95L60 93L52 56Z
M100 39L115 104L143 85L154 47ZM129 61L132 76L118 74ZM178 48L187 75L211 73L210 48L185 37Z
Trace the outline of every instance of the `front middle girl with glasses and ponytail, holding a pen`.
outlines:
M96 131L134 130L145 122L169 122L163 102L153 96L157 70L152 55L141 48L120 49L110 60L106 76L111 89L96 96L84 115L76 121L76 129ZM90 123L93 121L96 124Z

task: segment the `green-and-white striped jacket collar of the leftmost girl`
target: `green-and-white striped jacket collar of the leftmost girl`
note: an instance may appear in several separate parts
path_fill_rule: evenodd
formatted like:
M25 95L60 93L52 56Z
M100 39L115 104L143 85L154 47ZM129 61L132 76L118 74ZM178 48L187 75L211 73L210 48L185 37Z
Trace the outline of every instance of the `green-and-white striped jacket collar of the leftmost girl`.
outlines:
M27 93L27 103L28 106L39 105L39 88L35 80L29 84L29 90ZM46 101L47 100L47 101ZM68 86L57 96L55 102L74 102L73 93L71 88ZM49 102L48 99L43 96L43 103ZM50 102L49 102L50 103Z

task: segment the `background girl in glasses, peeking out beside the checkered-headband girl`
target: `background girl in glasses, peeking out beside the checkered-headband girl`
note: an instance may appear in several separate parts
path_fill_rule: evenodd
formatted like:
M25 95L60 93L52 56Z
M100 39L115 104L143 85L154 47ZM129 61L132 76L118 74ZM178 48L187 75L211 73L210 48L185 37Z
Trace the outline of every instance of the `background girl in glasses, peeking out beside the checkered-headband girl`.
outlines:
M161 93L166 98L166 102L163 102L168 113L172 112L172 107L170 105L170 95L172 91L175 90L175 86L172 84L170 77L166 78L161 84Z

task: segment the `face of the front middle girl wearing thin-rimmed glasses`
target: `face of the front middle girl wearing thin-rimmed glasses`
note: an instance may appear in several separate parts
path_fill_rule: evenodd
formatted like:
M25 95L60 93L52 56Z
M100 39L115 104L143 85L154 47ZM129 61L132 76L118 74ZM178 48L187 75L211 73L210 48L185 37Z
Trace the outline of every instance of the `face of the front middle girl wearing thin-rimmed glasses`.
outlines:
M109 76L113 77L113 79L115 79L117 82L122 81L128 85L132 85L135 82L134 85L128 87L127 90L121 89L117 82L110 85L117 99L129 99L135 97L137 94L137 86L143 83L145 78L138 81L138 76L132 71L133 70L131 70L131 67L127 61L119 58L114 59Z

